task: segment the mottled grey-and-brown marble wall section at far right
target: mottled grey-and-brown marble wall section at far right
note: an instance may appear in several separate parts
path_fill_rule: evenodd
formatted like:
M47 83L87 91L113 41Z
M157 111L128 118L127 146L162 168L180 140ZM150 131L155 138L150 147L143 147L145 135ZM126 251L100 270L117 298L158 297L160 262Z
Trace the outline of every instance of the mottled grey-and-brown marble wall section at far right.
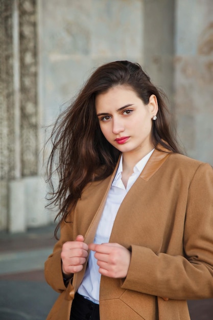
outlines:
M177 1L175 102L186 153L213 164L213 2Z

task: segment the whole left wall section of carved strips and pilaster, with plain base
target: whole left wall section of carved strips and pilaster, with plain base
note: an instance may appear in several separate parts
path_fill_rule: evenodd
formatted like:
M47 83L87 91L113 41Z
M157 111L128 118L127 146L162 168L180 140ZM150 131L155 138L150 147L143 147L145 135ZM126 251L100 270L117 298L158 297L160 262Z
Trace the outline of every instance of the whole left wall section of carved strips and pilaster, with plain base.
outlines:
M48 223L39 172L37 1L0 1L0 230Z

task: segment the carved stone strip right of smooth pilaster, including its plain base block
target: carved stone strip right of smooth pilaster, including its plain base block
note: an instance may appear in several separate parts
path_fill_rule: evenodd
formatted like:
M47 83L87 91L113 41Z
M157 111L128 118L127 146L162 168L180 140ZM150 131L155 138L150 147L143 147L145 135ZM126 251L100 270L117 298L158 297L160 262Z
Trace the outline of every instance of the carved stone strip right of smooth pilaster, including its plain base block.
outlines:
M27 226L44 225L44 181L39 176L37 0L19 0L21 175Z

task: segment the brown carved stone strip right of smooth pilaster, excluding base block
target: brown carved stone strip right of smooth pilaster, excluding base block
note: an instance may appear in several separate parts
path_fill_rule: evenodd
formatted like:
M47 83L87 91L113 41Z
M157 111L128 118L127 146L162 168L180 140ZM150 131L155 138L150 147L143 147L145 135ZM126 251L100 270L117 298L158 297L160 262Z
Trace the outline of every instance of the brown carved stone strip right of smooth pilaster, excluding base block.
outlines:
M38 171L36 0L19 0L22 176Z

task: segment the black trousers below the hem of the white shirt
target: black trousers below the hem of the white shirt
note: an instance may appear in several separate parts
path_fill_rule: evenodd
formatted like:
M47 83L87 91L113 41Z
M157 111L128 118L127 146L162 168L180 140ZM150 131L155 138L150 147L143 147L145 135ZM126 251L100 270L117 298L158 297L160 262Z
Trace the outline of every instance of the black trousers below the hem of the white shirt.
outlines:
M99 305L85 299L78 292L75 293L73 300L70 320L100 320Z

